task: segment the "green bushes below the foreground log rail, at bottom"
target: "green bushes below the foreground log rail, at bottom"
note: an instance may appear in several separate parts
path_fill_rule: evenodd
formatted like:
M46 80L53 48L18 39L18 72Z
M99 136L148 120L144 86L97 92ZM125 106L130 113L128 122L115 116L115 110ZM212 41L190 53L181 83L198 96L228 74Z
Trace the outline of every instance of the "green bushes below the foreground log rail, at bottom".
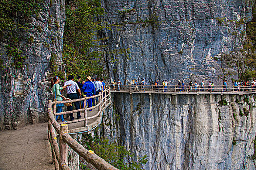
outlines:
M147 163L147 155L137 157L134 153L127 151L123 146L112 144L106 138L85 136L85 146L94 151L98 156L109 162L119 170L143 170L142 165ZM131 160L126 163L124 160ZM138 161L136 161L138 160Z

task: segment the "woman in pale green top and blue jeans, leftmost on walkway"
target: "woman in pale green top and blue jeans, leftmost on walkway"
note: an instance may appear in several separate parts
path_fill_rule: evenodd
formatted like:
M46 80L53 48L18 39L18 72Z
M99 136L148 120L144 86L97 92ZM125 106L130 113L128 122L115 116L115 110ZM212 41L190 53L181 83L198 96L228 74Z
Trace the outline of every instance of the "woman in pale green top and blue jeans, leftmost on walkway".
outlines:
M65 89L67 86L69 85L64 85L63 87L60 87L59 85L59 77L58 76L55 76L52 81L51 81L51 84L52 84L52 91L53 93L55 94L55 99L57 99L57 101L62 101L62 98L64 100L66 100L65 96L62 96L61 95L61 90L62 89ZM62 112L62 108L63 108L64 104L63 103L58 103L57 104L57 113L60 113ZM58 119L58 117L60 117L61 121L64 122L64 118L63 118L63 115L56 115L56 120Z

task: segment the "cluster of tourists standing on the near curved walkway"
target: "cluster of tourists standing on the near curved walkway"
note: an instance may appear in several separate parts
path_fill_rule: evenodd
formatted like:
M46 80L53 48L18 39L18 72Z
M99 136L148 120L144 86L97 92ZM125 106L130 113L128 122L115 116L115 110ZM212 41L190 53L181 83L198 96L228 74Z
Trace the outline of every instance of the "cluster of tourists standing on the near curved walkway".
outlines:
M95 96L95 95L98 95L99 92L104 91L106 86L103 78L93 79L90 76L86 77L85 81L81 81L81 77L78 76L77 81L75 82L74 76L69 75L68 81L64 83L63 87L60 87L59 82L60 82L60 79L58 76L55 76L51 81L52 92L55 95L55 99L57 99L57 101L67 100L67 98L69 100L75 100L75 99L83 98L83 96L86 96L86 97ZM61 94L63 93L64 90L66 90L67 97ZM87 103L83 103L83 101L74 102L76 109L78 110L80 108L83 108L84 104L87 104L88 107L95 106L99 101L97 97L97 98L87 99L86 102ZM64 106L63 103L57 104L57 113L62 112L63 106ZM72 104L68 105L67 111L72 111L72 110L73 110L73 105ZM92 111L92 110L89 110L89 111ZM65 122L63 115L56 116L56 120L58 119L58 117L60 117L62 122ZM70 113L69 117L70 117L70 121L75 119L73 116L73 113ZM77 112L77 119L80 119L80 118L81 118L80 112Z

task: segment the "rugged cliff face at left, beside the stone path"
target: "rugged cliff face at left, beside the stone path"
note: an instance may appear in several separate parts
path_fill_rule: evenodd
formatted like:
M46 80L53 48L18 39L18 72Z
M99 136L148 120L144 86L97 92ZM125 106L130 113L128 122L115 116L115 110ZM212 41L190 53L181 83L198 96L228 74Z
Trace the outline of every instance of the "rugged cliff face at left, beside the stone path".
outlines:
M8 58L8 34L0 40L0 129L16 129L31 122L47 119L50 97L50 59L61 62L62 36L65 20L64 0L43 0L38 16L27 18L28 29L19 32L21 55L26 56L22 68L15 68ZM15 18L18 20L20 18ZM15 36L15 35L13 35Z

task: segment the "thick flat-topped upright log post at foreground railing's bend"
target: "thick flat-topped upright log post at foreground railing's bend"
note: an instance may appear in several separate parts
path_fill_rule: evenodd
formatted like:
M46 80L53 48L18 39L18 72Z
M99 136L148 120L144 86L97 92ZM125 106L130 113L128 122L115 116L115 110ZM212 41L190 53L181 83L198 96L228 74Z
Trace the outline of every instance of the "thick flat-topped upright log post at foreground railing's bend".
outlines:
M62 140L62 135L68 133L68 125L61 124L59 132L59 170L63 170L68 166L68 148L64 140Z

